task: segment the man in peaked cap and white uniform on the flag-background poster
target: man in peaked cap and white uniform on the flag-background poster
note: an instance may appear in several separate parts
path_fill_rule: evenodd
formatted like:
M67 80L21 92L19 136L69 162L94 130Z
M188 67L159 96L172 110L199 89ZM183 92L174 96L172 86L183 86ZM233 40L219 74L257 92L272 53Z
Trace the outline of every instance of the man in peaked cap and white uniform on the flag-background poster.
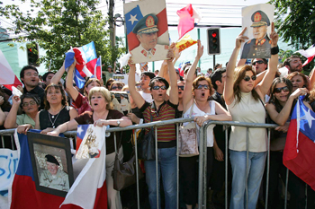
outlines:
M139 39L139 46L130 51L134 63L166 59L168 45L157 44L157 16L148 13L134 26L132 32Z

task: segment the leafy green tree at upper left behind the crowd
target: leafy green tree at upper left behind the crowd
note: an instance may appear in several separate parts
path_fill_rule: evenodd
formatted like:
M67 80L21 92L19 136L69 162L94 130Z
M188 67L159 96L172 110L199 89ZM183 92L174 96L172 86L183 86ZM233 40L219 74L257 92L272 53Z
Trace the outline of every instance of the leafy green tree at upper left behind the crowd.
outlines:
M21 2L25 4L25 0ZM96 9L98 3L98 0L31 0L32 9L26 14L19 6L10 4L0 10L0 15L14 18L15 27L8 30L26 34L18 41L36 42L46 50L40 62L46 61L47 68L51 59L50 69L58 70L70 47L81 47L92 40L102 63L112 65L124 49L110 47L109 31L105 30L107 20Z

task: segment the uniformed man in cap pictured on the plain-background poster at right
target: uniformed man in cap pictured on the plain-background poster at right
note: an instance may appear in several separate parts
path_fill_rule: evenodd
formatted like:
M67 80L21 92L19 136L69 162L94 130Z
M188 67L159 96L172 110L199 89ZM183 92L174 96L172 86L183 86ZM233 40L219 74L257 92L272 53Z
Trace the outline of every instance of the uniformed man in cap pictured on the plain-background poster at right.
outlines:
M254 39L248 40L243 48L241 59L270 58L271 40L267 36L270 21L266 13L257 10L251 16Z

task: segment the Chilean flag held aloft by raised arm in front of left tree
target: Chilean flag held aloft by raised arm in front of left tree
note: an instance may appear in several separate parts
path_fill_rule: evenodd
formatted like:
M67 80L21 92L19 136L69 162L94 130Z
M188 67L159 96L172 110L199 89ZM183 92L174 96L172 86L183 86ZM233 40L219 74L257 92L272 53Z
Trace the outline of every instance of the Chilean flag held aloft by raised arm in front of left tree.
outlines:
M65 68L73 64L76 57L76 70L82 77L91 77L94 74L97 57L94 41L81 48L71 48L66 53Z

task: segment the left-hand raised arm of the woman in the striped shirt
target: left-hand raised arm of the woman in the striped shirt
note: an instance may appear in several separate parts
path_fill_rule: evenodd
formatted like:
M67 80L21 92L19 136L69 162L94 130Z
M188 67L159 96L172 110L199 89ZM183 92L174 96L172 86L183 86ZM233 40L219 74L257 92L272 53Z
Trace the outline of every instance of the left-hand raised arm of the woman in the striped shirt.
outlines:
M142 98L142 96L139 94L139 92L136 90L136 65L132 64L131 58L128 61L128 65L130 66L130 71L129 71L129 77L128 77L128 86L129 86L129 91L132 99L136 103L137 107L140 109L145 100Z

